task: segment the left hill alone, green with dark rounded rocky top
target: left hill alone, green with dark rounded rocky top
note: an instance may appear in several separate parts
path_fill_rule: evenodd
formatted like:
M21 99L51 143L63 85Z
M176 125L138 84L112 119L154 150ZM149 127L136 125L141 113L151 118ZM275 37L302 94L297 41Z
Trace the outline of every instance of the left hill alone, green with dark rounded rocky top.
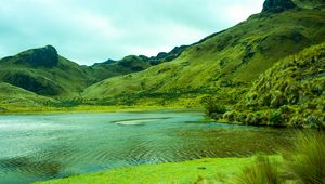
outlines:
M0 60L0 81L39 95L77 95L93 79L52 45L31 49Z

